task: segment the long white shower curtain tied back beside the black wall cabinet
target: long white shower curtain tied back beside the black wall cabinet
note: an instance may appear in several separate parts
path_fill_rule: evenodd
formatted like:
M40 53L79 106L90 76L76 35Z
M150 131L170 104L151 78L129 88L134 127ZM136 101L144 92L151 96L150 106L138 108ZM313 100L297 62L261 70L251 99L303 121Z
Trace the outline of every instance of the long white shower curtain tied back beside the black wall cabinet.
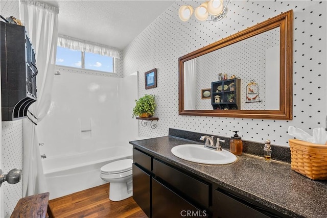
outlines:
M49 110L55 72L59 9L36 1L19 1L20 19L32 40L38 75L37 101L23 121L23 196L46 191L37 140L37 123Z

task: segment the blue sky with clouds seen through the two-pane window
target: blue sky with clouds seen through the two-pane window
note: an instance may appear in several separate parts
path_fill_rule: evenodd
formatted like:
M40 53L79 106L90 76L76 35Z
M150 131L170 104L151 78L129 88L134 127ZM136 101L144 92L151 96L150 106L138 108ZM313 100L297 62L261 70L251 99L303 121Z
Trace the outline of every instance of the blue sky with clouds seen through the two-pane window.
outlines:
M85 69L113 72L113 58L85 52ZM56 65L82 67L81 51L57 46Z

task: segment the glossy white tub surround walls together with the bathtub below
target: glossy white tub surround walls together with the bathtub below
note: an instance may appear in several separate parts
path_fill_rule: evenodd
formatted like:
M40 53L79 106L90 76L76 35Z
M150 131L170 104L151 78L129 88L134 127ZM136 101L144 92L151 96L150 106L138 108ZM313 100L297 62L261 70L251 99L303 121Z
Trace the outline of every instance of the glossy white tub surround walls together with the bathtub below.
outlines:
M137 73L113 78L76 71L60 68L48 116L37 126L50 199L104 184L100 168L131 158L128 142L141 139L132 118Z

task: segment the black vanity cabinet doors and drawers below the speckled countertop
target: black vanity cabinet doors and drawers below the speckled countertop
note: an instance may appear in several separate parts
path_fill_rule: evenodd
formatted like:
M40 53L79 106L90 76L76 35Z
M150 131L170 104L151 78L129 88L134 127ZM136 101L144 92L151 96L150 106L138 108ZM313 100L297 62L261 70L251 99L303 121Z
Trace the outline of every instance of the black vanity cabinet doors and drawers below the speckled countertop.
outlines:
M133 148L133 198L148 217L288 217Z

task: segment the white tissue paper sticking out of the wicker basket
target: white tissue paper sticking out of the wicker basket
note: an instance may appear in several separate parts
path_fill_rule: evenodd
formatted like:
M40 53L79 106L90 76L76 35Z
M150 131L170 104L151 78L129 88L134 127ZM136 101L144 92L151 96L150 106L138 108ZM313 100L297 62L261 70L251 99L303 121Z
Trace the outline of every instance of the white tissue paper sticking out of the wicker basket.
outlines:
M297 139L315 144L325 144L327 140L327 133L322 127L314 128L312 132L313 135L311 136L309 133L299 128L290 126L288 127L288 134Z

